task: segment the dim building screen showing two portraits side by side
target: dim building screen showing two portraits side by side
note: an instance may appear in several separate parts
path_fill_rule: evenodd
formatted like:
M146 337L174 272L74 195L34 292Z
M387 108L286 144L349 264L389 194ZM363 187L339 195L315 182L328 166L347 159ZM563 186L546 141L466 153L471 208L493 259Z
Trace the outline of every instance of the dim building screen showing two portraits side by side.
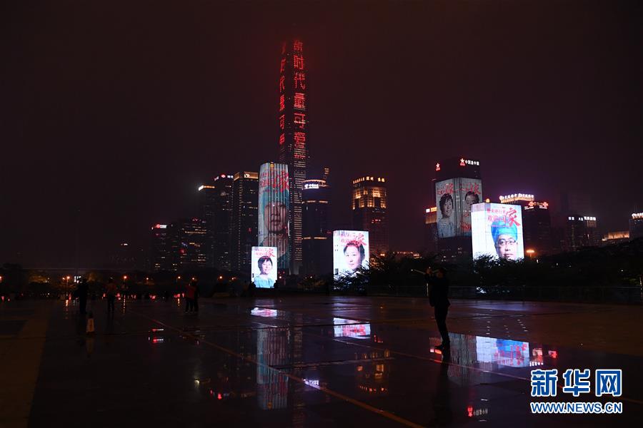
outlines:
M471 206L482 200L482 180L450 178L435 183L437 236L471 236Z

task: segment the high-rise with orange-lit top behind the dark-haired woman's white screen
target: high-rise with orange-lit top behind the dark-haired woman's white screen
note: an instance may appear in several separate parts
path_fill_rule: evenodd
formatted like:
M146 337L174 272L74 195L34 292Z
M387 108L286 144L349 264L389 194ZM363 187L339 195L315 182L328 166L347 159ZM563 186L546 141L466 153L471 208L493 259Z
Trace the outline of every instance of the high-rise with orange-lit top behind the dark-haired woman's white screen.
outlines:
M389 252L389 220L387 215L387 183L384 177L353 180L353 229L369 233L370 255Z

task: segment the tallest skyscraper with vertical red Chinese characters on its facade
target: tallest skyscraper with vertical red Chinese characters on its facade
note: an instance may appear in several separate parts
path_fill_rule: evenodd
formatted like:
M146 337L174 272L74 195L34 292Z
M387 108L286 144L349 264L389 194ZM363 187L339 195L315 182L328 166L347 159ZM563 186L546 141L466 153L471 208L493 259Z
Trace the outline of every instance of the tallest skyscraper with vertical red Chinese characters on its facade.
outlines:
M298 40L281 45L279 64L279 162L288 165L290 187L290 272L301 266L301 190L308 164L306 117L306 61Z

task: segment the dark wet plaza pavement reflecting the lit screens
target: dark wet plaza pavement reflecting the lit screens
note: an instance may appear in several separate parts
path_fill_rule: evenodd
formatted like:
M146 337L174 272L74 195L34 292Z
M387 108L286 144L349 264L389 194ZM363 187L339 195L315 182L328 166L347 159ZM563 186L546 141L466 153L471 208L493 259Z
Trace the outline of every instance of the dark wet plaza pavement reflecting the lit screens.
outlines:
M91 336L75 302L41 303L45 336L16 332L29 302L0 307L4 348L44 340L28 423L6 426L627 426L643 417L640 307L456 300L451 351L441 353L424 299L202 299L198 315L183 303L119 301L108 316L105 302L89 302ZM530 397L534 368L622 369L622 397L559 391L549 401L622 402L623 413L531 414L529 402L547 401Z

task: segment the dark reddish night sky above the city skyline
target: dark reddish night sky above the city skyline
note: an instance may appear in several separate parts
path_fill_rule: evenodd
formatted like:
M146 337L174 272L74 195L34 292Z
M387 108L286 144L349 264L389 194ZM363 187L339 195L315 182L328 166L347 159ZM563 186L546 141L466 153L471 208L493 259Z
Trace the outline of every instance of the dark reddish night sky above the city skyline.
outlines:
M304 41L309 148L333 220L384 175L394 250L422 245L436 161L484 197L589 194L603 231L643 210L639 1L7 2L0 263L105 265L196 214L217 173L278 153L281 40ZM35 2L34 2L35 3Z

